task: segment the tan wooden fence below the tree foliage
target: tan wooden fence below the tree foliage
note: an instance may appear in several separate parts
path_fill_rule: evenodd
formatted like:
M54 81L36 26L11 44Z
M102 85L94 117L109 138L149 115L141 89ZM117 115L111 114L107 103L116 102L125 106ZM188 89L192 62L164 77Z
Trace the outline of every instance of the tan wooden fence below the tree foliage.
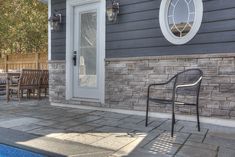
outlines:
M46 53L11 54L0 58L0 72L20 71L22 69L48 69Z

